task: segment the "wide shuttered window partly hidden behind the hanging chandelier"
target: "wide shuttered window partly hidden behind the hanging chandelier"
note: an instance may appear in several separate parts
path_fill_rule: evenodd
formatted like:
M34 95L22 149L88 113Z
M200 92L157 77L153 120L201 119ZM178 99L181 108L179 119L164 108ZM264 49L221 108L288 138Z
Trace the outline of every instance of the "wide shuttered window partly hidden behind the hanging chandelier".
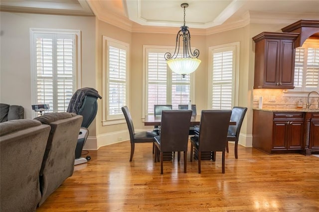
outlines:
M174 47L144 46L144 115L154 114L154 105L172 105L178 109L178 105L188 104L193 96L194 73L182 78L166 64L164 54L173 51Z

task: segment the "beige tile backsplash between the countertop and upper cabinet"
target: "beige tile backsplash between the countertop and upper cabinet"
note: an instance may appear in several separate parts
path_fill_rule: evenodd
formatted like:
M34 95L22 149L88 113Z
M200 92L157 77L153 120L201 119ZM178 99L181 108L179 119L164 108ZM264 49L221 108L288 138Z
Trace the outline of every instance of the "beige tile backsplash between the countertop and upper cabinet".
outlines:
M283 89L254 89L254 108L259 105L259 98L263 97L263 108L297 108L298 101L303 101L306 108L307 97L283 97ZM312 106L318 107L318 98L311 98Z

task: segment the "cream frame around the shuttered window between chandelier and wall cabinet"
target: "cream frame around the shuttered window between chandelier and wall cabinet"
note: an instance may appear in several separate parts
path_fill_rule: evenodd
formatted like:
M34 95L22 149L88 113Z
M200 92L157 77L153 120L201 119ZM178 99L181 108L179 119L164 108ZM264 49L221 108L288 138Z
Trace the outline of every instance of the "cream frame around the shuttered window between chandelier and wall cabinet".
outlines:
M231 107L238 105L238 93L239 93L239 53L240 43L233 42L228 44L222 44L217 46L208 47L208 97L207 108L212 109L212 70L213 70L213 53L214 51L225 50L233 51L233 73L232 73L232 103Z

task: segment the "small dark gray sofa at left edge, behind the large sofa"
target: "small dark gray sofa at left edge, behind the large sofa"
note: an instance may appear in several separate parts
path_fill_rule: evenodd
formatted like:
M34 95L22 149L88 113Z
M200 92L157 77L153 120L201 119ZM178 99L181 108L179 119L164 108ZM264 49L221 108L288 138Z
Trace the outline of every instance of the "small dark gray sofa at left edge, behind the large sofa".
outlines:
M0 103L0 122L23 119L24 108Z

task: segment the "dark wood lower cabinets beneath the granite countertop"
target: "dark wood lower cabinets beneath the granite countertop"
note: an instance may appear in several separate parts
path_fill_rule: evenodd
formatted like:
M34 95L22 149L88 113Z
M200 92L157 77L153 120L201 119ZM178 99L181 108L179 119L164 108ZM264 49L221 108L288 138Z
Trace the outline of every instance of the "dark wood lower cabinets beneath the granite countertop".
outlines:
M319 152L319 111L254 109L253 147L268 154Z

